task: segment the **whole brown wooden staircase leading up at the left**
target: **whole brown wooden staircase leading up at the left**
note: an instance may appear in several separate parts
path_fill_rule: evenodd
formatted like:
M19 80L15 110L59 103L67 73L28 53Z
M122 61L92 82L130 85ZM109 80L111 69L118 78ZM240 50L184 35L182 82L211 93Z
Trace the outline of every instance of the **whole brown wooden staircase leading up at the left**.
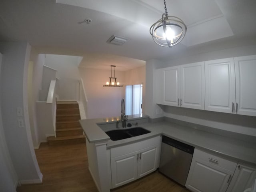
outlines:
M56 137L48 137L50 146L60 144L85 143L77 102L57 102Z

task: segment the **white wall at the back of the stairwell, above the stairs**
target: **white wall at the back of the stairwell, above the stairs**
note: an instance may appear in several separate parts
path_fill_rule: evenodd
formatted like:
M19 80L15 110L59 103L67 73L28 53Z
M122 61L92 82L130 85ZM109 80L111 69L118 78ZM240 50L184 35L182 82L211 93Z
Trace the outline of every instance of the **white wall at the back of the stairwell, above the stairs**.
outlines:
M78 65L82 57L46 54L45 65L57 70L60 100L79 100L80 74Z

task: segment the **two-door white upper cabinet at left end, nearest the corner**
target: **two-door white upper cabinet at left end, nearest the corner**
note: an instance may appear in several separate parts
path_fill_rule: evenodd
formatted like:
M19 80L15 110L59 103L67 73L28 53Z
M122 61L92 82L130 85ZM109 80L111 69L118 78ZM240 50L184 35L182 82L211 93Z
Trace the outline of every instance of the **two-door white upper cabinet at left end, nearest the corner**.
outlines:
M158 69L156 78L158 104L204 109L204 62Z

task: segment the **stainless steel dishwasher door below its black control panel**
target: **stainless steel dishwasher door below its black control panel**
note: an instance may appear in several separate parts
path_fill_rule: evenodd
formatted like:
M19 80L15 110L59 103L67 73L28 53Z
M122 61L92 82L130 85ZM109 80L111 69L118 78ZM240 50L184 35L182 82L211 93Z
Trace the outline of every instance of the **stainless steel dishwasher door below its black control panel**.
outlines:
M185 186L192 154L162 142L159 171Z

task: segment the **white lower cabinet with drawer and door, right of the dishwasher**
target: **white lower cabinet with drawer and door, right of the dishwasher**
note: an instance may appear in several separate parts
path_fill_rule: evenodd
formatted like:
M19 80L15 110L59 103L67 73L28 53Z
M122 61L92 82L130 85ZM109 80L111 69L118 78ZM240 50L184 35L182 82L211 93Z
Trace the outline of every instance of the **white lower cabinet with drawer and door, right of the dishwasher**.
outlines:
M225 192L237 162L194 150L186 187L193 192Z

